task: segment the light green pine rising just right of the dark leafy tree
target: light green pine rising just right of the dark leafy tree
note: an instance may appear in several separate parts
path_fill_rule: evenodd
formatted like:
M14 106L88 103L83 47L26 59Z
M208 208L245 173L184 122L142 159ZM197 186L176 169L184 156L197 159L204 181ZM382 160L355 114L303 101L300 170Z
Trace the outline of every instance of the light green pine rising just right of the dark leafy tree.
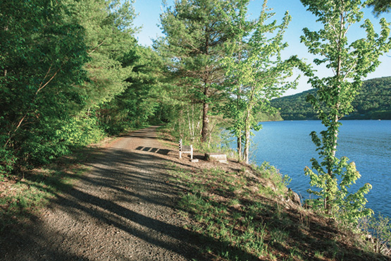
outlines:
M129 85L126 79L132 74L132 64L123 66L120 59L135 49L135 11L131 1L68 1L75 12L72 22L85 28L84 42L90 58L84 66L88 76L83 86L85 106L97 108Z

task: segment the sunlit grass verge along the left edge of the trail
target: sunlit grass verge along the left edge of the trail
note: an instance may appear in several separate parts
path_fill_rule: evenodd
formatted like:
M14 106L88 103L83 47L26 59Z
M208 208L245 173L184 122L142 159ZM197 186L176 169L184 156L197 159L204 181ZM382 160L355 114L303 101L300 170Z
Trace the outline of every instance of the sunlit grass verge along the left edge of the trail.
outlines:
M78 152L73 157L62 157L53 164L0 181L0 232L17 224L27 225L51 199L72 188L88 170L77 164L82 158L83 153Z

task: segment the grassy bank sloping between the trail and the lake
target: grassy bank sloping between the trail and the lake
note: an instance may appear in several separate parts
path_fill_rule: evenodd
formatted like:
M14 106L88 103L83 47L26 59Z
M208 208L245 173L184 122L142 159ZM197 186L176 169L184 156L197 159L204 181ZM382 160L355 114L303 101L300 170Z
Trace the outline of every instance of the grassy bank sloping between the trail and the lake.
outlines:
M284 200L284 180L268 164L170 169L173 182L187 187L178 208L193 220L187 229L204 243L204 260L387 260L325 217Z

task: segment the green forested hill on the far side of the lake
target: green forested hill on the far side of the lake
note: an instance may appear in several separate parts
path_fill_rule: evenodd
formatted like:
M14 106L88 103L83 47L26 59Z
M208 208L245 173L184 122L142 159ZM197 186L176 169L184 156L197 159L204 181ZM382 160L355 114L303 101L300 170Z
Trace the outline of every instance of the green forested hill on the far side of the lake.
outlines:
M271 104L280 108L284 120L318 119L316 112L306 102L306 97L316 90L273 99ZM391 77L364 81L361 92L352 102L354 111L345 119L391 119Z

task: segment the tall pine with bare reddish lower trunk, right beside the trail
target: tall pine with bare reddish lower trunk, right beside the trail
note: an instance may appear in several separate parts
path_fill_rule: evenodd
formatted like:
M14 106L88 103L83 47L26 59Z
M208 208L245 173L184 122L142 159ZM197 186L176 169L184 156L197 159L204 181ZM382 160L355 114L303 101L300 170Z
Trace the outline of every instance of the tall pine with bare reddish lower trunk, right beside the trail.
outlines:
M192 94L188 104L202 104L201 142L210 134L209 110L224 78L223 43L232 35L219 13L231 4L235 1L175 1L175 6L161 15L165 36L155 42L156 49L170 57L170 73Z

